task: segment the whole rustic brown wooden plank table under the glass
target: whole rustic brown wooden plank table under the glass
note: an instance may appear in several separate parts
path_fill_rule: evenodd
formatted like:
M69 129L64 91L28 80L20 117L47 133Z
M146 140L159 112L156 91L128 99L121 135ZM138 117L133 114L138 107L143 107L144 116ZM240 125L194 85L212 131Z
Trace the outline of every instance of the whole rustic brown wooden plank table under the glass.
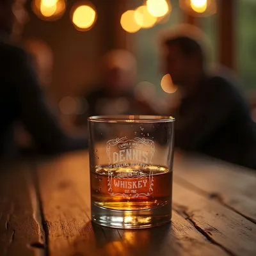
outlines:
M1 165L0 255L256 255L256 174L196 156L174 164L172 223L90 221L87 152Z

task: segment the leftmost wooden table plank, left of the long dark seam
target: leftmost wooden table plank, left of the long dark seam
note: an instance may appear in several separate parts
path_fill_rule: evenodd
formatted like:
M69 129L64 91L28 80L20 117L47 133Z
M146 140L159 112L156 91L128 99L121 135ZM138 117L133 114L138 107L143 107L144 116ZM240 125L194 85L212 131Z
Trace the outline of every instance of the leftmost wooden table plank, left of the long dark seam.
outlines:
M31 164L0 168L0 255L44 255L44 230Z

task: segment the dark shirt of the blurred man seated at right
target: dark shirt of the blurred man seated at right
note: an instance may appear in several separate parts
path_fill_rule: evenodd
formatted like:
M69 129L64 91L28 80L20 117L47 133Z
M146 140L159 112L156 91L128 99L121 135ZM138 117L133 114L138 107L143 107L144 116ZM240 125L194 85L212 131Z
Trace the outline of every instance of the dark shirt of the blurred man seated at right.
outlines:
M255 124L228 72L202 79L175 118L177 147L256 169Z

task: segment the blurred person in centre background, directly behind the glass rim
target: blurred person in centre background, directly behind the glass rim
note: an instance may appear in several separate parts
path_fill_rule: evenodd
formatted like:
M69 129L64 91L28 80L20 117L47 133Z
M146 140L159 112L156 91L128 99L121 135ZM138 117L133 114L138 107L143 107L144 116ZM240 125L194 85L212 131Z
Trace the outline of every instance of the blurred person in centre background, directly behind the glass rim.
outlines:
M85 96L87 110L77 123L85 124L93 115L150 115L148 104L136 99L137 63L131 52L109 51L102 59L101 81L93 92Z

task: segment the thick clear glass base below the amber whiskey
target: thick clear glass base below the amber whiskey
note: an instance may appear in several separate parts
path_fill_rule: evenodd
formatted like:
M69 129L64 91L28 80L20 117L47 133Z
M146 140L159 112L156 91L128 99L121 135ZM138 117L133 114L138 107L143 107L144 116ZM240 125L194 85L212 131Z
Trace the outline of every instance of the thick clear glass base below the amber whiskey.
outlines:
M113 210L92 204L92 221L112 228L149 228L168 223L172 203L144 210Z

